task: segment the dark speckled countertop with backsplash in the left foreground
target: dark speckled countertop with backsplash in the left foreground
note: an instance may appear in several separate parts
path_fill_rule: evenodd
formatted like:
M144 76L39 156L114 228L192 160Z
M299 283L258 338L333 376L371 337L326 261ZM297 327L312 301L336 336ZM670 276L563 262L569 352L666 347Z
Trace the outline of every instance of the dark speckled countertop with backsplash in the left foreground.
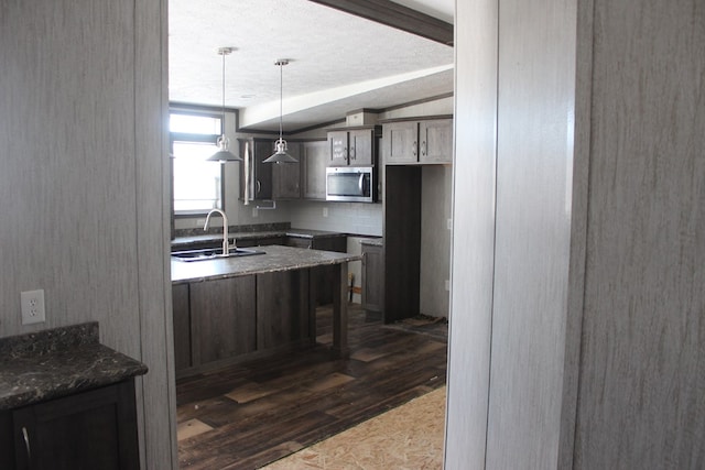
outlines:
M100 345L95 321L0 338L0 411L145 373L143 363Z

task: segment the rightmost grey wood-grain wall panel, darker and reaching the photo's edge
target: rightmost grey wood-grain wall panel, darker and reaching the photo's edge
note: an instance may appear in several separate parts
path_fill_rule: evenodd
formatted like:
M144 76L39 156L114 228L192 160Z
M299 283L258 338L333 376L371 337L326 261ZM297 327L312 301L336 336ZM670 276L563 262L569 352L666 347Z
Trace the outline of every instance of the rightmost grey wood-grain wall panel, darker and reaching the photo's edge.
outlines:
M577 468L705 467L705 6L596 1Z

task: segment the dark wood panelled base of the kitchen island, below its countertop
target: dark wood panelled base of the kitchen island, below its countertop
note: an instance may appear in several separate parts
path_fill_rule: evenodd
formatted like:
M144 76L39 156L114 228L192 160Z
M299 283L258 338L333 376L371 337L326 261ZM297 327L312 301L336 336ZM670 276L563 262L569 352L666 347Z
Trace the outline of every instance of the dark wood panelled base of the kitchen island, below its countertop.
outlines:
M313 346L310 270L172 286L176 378Z

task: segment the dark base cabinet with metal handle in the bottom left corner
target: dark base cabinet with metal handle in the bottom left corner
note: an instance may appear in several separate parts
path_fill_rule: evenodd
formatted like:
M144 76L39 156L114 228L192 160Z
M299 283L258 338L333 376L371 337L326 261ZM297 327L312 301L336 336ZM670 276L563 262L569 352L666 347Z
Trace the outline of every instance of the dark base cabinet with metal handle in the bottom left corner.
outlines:
M0 468L140 468L134 380L0 412Z

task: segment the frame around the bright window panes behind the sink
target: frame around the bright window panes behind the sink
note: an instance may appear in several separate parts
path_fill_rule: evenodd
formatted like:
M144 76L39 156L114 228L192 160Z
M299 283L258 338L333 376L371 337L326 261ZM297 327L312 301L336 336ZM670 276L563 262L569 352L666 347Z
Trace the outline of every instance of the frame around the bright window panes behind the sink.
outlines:
M214 111L198 111L198 110L183 110L170 108L169 118L171 119L172 114L184 114L184 116L195 116L195 117L205 117L205 118L214 118L220 121L220 133L219 134L198 134L198 133L188 133L188 132L172 132L170 129L169 132L169 152L170 152L170 204L171 204L171 215L172 220L176 219L193 219L199 217L206 217L210 209L206 210L189 210L189 211L180 211L176 212L174 209L174 142L196 142L196 143L212 143L216 144L217 140L220 135L225 133L225 119L221 112ZM214 165L220 166L220 204L216 207L221 210L226 210L226 200L225 200L225 165L213 163Z

